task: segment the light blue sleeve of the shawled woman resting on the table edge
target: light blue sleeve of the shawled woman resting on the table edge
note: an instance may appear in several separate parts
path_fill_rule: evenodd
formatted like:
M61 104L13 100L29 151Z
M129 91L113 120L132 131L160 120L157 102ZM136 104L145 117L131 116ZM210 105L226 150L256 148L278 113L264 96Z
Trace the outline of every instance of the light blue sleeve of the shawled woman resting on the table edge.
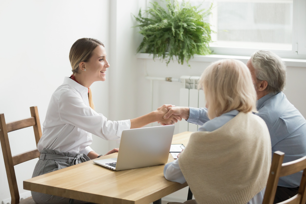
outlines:
M178 165L178 159L166 164L164 167L164 176L167 180L180 184L184 184L186 182L180 166Z

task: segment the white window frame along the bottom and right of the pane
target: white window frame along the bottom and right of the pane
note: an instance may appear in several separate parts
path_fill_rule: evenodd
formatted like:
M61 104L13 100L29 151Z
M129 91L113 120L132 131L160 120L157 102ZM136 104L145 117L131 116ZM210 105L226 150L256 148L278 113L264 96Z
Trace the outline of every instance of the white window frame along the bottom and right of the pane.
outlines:
M282 58L306 59L306 0L293 0L292 50L270 50ZM250 56L259 49L210 46L213 54ZM267 50L267 49L265 49Z

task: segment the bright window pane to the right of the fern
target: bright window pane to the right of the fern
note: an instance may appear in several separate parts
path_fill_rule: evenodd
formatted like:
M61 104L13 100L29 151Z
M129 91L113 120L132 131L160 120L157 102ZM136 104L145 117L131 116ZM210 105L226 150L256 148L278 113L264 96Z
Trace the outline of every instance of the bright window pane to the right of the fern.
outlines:
M292 50L293 1L216 3L212 46Z

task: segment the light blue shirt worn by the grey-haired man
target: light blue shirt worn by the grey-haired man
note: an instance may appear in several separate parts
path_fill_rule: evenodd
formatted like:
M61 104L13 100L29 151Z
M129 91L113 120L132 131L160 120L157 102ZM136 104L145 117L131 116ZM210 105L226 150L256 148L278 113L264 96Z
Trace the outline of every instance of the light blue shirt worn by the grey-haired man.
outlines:
M257 101L257 110L267 124L271 137L272 156L275 151L285 153L284 163L306 155L306 120L288 101L285 94L270 93ZM189 107L188 122L203 125L209 118L206 108ZM279 178L278 186L298 187L302 171Z

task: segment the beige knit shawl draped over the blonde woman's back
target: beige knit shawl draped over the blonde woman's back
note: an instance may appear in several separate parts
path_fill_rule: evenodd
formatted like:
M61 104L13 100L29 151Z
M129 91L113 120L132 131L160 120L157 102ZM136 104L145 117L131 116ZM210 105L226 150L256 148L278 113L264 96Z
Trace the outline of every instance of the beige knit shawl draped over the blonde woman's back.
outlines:
M245 204L267 184L267 125L259 116L240 112L213 132L194 132L179 165L198 204Z

